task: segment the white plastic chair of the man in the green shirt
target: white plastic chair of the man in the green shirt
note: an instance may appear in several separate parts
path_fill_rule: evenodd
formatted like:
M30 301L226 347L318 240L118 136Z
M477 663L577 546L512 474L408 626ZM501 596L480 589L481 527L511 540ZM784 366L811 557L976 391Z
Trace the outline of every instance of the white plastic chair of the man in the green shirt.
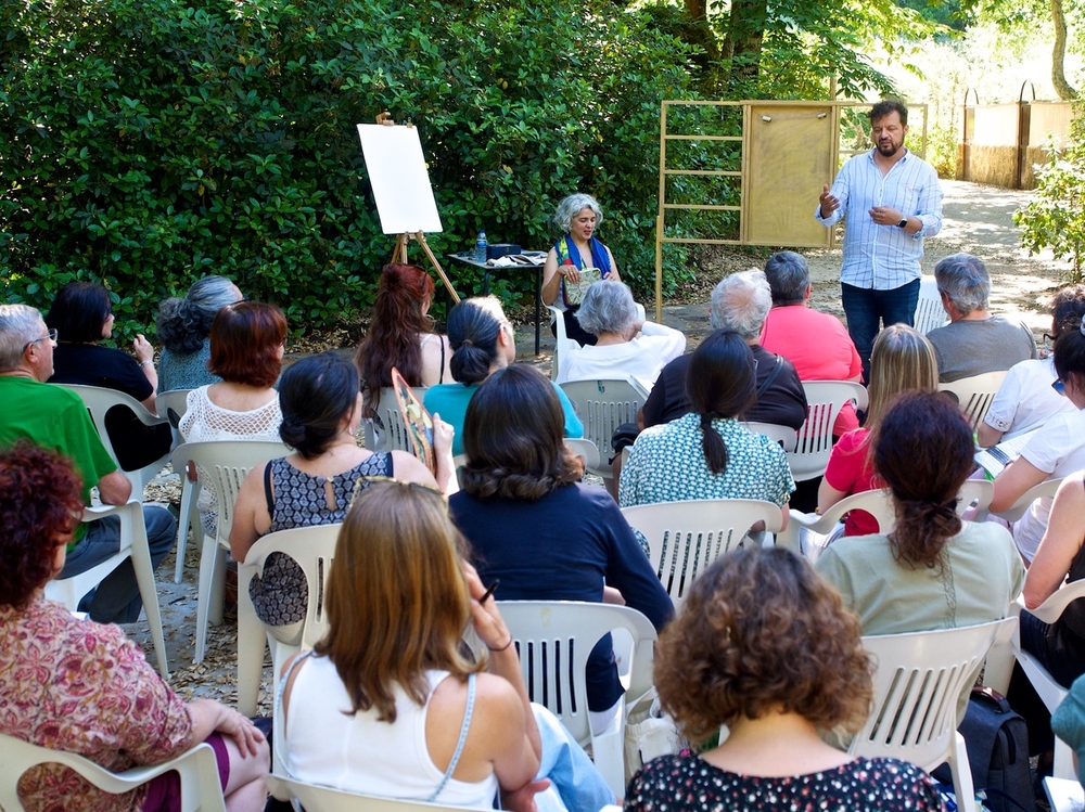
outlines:
M143 521L143 503L132 494L123 505L95 505L85 507L82 511L84 521L97 521L106 516L116 516L120 519L120 546L116 554L77 576L49 581L46 584L46 597L75 611L79 598L101 583L102 579L120 566L126 558L131 558L139 594L143 600L143 610L146 613L148 627L151 630L151 641L154 643L154 656L158 660L158 673L162 674L162 679L168 680L169 661L166 658L166 641L162 635L158 591L154 581L154 567L151 565L146 525Z

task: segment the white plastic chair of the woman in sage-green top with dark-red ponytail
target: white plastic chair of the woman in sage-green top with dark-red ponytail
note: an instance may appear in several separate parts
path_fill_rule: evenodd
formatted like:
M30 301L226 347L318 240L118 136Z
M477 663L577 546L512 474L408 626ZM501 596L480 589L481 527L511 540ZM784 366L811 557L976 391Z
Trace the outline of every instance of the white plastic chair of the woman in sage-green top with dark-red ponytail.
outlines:
M957 703L972 687L992 644L1009 637L1017 618L909 634L865 636L873 655L875 704L848 752L896 758L930 772L949 762L957 808L975 812Z

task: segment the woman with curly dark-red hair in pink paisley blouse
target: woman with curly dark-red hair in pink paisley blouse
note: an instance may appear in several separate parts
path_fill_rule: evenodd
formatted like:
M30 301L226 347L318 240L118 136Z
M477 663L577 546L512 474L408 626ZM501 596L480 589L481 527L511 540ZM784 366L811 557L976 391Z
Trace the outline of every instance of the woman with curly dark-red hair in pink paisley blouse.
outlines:
M46 600L78 527L79 479L65 457L27 442L0 452L0 733L112 771L207 742L227 809L263 810L268 746L252 722L213 699L183 701L120 629ZM22 777L18 795L27 809L171 810L180 779L165 773L116 796L43 764Z

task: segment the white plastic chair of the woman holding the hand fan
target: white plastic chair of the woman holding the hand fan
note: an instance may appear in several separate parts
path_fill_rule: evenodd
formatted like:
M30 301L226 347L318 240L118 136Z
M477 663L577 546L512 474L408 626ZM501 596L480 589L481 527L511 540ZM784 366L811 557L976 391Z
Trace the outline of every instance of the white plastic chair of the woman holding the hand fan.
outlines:
M238 567L238 710L246 717L256 716L260 678L264 674L264 641L271 648L271 682L278 684L282 663L303 648L312 648L328 631L324 614L324 588L335 555L335 541L342 525L315 525L268 533L253 544L244 563ZM271 553L285 553L305 572L309 607L297 645L279 641L256 617L248 596L248 585L255 576L264 573Z

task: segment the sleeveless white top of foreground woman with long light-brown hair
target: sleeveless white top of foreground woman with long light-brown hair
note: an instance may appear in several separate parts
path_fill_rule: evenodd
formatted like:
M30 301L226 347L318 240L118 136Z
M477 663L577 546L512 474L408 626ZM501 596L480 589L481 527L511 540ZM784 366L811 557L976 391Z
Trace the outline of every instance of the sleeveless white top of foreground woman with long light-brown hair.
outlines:
M348 714L350 698L328 657L307 657L295 674L283 748L293 778L401 800L433 796L445 774L430 758L425 713L447 671L426 673L430 691L421 708L397 685L394 724L378 721L375 709ZM449 778L434 802L489 810L497 791L495 774L481 782Z

